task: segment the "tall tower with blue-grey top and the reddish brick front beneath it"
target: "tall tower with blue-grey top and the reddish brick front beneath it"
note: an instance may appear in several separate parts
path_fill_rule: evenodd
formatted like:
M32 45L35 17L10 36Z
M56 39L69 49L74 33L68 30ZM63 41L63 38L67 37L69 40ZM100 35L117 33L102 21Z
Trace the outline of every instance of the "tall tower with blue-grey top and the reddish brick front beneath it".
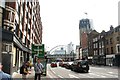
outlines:
M92 22L90 19L81 19L79 22L79 36L80 36L80 48L82 50L82 53L80 55L86 56L88 55L88 45L87 40L88 36L87 34L92 31Z

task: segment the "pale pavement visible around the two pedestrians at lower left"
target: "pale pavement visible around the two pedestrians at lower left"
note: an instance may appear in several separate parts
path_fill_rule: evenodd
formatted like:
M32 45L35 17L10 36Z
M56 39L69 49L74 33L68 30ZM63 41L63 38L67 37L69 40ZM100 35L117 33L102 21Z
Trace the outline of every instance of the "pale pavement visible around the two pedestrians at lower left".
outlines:
M29 79L31 79L31 80L34 80L34 75L35 75L35 71L34 71L34 67L32 67L32 69L31 69L31 74L28 74L27 75L27 78L29 78ZM19 72L19 70L18 70L18 72L14 72L13 74L12 74L12 78L13 79L21 79L22 78L22 74L20 74L20 72ZM42 76L42 78L48 78L48 76Z

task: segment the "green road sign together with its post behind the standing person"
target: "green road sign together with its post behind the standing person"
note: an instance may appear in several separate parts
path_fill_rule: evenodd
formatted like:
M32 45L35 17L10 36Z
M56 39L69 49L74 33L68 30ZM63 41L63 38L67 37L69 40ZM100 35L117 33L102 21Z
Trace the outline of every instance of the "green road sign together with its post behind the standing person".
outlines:
M44 66L43 75L46 76L47 61L45 59L44 44L32 44L32 57L38 57L41 59L41 63Z

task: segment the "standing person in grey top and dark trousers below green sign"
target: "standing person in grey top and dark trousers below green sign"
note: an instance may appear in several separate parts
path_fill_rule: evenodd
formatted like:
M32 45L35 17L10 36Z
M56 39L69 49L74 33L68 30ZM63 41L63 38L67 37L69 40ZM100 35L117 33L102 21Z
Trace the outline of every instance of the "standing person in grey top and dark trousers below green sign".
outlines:
M43 73L44 66L40 62L40 59L37 59L37 62L35 63L34 70L35 70L35 80L41 80L41 75Z

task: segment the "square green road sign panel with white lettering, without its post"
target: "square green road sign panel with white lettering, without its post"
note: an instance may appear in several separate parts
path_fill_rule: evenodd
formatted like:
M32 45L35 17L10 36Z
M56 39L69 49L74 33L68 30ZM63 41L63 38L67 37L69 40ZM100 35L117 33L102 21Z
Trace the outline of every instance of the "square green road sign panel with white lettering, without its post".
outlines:
M38 58L44 58L44 44L32 44L32 55L38 55Z

